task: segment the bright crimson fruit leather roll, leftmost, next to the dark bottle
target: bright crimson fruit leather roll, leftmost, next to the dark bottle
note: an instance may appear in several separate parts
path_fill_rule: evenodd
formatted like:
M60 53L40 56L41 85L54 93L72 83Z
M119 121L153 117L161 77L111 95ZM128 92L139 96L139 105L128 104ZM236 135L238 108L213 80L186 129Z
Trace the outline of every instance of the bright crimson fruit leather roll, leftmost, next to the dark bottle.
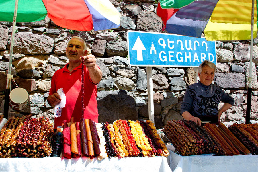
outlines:
M64 157L71 159L71 140L70 140L70 127L68 127L67 121L64 121Z

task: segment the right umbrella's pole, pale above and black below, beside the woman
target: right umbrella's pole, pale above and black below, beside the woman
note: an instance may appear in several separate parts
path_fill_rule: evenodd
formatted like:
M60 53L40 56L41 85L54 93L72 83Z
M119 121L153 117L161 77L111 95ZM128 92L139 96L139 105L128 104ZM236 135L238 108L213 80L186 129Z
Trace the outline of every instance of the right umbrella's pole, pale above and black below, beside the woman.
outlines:
M253 65L253 18L254 18L254 0L252 0L250 62L249 62L249 77L248 77L247 105L246 105L245 124L249 124L249 122L250 122L250 114L251 114L252 73L253 73L253 67L252 67L252 65Z

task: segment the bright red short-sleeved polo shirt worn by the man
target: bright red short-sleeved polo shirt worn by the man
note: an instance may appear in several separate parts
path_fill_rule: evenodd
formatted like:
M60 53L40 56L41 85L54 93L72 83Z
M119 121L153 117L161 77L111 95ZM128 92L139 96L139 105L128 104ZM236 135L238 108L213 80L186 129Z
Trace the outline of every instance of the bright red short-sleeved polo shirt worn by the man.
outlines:
M69 64L69 63L68 63ZM60 117L55 117L54 128L62 125L64 120L70 122L71 117L74 117L75 122L79 122L82 115L81 103L81 64L70 72L67 65L64 68L56 71L51 80L51 89L49 95L56 93L59 88L64 89L66 96L65 107L62 108ZM97 85L92 83L89 76L89 71L84 68L84 119L91 119L98 122L97 108Z

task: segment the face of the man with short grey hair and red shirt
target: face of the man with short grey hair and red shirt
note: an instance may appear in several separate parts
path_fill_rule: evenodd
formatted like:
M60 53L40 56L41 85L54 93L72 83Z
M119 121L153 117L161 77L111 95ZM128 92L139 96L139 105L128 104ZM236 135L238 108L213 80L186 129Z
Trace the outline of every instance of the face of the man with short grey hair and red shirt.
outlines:
M83 41L73 38L68 42L66 56L69 62L80 62L80 57L85 56L87 50L83 51Z

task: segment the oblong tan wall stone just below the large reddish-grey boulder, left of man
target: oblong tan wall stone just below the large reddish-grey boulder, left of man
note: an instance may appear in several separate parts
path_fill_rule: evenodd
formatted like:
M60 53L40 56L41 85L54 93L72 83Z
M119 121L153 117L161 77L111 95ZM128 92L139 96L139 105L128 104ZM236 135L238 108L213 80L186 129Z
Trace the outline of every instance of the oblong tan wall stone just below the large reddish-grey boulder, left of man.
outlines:
M34 67L39 67L44 63L43 60L33 57L24 57L13 62L13 65L16 69L31 69Z

